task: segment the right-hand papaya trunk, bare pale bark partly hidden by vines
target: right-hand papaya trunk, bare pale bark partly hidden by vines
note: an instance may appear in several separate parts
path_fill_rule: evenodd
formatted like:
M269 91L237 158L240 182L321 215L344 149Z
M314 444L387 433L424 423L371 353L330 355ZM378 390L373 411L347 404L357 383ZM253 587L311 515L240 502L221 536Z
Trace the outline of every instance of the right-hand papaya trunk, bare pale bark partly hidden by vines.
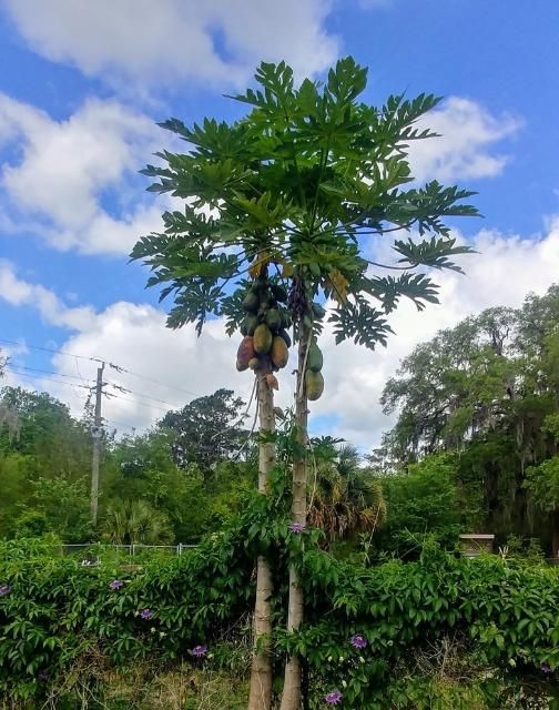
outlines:
M311 334L303 333L298 346L297 388L295 394L295 423L297 427L297 448L293 458L293 500L292 523L306 525L306 450L308 446L307 417L308 403L305 392L305 359ZM287 630L296 631L303 623L303 588L298 570L289 566L289 602L287 610ZM299 710L302 688L302 667L298 656L292 656L285 666L284 689L281 710Z

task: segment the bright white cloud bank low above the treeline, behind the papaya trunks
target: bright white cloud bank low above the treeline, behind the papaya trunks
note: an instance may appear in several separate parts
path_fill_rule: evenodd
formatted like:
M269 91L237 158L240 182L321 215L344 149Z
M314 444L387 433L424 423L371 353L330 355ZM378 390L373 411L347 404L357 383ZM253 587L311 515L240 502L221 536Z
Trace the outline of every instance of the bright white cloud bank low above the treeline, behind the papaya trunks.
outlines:
M364 448L376 445L392 422L378 404L384 384L417 343L482 308L519 306L529 291L541 294L557 280L559 220L539 240L486 230L475 237L474 246L480 254L464 258L466 276L437 274L440 305L423 313L407 302L400 305L390 317L396 334L387 348L372 353L352 343L336 346L326 328L321 339L326 387L324 396L313 403L311 417L323 433L343 436ZM161 417L169 405L183 406L195 395L211 394L218 387L230 387L245 399L250 396L250 375L237 373L234 366L237 338L224 334L221 321L209 323L197 338L192 326L176 332L165 328L164 314L150 305L120 302L95 314L90 308L67 307L41 286L17 280L6 264L0 270L0 292L13 305L34 304L49 322L72 329L62 351L103 357L142 375L108 369L110 382L131 390L113 389L118 398L103 405L106 418L116 425L142 428ZM60 373L75 372L73 358L65 355L55 356L53 365ZM93 377L96 363L80 361L80 367L84 377ZM280 384L277 403L289 406L294 386L291 364L282 371ZM68 388L50 382L43 386L68 400ZM79 407L74 410L79 413ZM328 422L332 424L326 425Z

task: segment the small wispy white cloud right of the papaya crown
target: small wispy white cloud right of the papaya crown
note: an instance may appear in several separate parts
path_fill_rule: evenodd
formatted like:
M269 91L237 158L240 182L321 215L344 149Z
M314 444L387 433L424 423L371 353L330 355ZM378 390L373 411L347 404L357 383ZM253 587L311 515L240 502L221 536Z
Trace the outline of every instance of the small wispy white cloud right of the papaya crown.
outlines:
M450 97L417 125L440 138L410 143L413 174L420 182L447 182L499 175L509 156L495 153L494 144L517 133L522 122L508 114L494 115L469 99Z

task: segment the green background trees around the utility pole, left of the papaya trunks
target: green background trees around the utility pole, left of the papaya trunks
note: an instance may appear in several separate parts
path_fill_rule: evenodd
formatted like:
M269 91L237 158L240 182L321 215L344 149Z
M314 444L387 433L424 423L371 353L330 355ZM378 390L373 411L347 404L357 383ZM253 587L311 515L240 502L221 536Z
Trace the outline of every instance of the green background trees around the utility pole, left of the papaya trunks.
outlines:
M92 530L88 420L48 395L9 387L1 395L17 413L19 436L0 427L0 538L197 542L231 519L255 480L252 463L230 460L246 442L243 403L218 389L142 435L105 442L100 528Z

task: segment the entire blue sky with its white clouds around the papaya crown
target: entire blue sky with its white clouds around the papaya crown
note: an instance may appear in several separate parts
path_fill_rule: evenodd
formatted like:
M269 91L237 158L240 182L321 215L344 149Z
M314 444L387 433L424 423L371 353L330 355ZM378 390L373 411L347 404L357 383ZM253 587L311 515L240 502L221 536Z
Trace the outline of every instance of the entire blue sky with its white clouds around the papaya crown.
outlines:
M427 314L404 307L386 351L336 351L325 336L315 427L373 444L388 424L382 385L414 344L517 305L558 273L558 27L549 0L0 0L0 338L28 345L3 343L7 382L47 388L78 413L95 364L31 346L105 357L149 378L111 371L131 390L106 402L118 426L146 426L189 393L247 396L221 324L201 341L165 331L145 272L126 263L166 206L138 170L170 140L155 121L238 115L222 94L246 85L261 59L319 78L352 53L369 67L372 103L402 91L446 98L429 121L444 138L414 166L477 190L485 215L459 227L482 252L468 277L445 276Z

